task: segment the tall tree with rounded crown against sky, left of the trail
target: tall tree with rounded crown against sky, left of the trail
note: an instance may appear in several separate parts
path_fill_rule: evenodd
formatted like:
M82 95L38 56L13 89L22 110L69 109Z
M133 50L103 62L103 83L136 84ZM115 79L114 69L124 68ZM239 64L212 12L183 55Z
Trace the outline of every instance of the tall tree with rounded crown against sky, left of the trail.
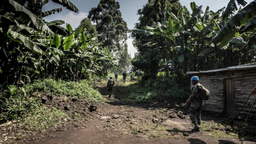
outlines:
M100 0L97 7L90 10L88 18L96 24L99 41L110 50L118 51L126 44L128 27L115 0Z

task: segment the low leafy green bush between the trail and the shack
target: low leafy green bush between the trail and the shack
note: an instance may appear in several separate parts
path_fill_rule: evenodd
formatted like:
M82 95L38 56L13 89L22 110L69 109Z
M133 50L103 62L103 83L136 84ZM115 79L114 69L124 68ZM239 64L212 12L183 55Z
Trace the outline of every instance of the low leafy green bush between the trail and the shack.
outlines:
M189 86L178 84L174 77L158 76L156 79L148 79L134 84L129 98L136 102L149 100L166 100L185 98L189 95Z

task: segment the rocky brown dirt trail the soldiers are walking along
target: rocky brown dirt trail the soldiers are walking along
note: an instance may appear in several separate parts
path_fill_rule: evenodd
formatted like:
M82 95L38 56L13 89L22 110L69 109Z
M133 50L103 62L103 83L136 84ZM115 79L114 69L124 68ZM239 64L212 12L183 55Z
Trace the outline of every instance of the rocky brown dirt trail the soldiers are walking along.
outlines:
M181 101L126 104L128 84L116 82L111 99L108 99L107 80L97 80L96 88L106 99L105 103L93 103L97 110L89 112L84 101L71 102L76 108L73 120L65 126L27 137L14 143L25 144L251 144L237 138L216 138L210 130L191 131L188 108ZM122 100L121 100L122 99ZM84 106L88 104L88 106ZM60 105L60 104L58 104ZM53 105L53 106L58 106ZM63 105L61 105L63 106ZM85 109L79 109L79 107ZM83 112L79 112L83 111ZM77 116L78 115L78 116ZM81 115L81 116L79 116ZM209 115L203 121L223 119ZM210 122L210 121L209 121ZM217 126L217 125L216 125Z

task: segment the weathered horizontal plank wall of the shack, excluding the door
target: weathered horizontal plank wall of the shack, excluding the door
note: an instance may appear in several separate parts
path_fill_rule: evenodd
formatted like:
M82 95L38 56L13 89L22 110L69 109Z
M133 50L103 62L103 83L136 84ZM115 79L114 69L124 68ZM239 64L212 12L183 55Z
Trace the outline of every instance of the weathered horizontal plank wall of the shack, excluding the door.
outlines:
M194 75L190 75L191 77ZM235 93L235 113L237 113L246 99L250 95L252 89L256 85L256 69L236 70L225 73L199 74L200 84L210 91L210 97L204 102L204 111L225 114L224 105L224 80L230 79L234 81ZM191 82L191 88L193 87ZM240 112L240 116L247 117L255 96L251 96L245 108ZM253 106L250 119L256 120L256 104Z

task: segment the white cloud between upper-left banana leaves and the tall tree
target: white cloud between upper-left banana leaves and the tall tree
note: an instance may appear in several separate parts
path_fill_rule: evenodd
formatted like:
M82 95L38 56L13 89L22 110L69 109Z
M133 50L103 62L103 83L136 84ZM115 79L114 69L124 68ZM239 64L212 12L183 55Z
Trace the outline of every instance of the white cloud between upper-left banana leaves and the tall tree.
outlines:
M88 16L88 13L86 12L69 12L67 15L61 15L59 19L64 20L65 23L69 23L72 28L76 28L79 26L82 19L86 18ZM61 25L63 27L66 27L66 24Z

